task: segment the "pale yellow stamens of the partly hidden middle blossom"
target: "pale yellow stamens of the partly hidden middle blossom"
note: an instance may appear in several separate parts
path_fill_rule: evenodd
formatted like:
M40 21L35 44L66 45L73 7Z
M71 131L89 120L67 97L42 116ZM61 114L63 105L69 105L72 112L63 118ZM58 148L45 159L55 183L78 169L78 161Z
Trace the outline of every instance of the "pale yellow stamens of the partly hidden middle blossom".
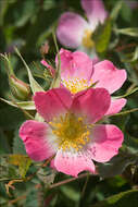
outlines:
M63 82L64 86L66 88L68 88L72 94L76 94L80 90L88 88L89 84L90 84L90 83L88 83L87 80L78 78L78 77L68 78L67 81L63 80L62 82Z

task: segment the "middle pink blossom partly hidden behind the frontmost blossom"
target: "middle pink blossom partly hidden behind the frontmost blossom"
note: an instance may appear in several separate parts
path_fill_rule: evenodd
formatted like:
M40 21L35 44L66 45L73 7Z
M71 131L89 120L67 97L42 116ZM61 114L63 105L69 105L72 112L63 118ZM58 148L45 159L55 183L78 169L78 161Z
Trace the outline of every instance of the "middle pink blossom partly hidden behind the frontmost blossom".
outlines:
M92 85L95 88L103 87L113 94L126 81L126 71L116 69L109 60L97 62L96 59L91 60L85 52L72 52L65 49L60 50L60 56L61 87L68 88L73 95ZM52 70L45 60L41 63ZM58 64L58 58L55 58L55 63ZM106 114L120 112L125 105L125 98L115 99L112 97Z

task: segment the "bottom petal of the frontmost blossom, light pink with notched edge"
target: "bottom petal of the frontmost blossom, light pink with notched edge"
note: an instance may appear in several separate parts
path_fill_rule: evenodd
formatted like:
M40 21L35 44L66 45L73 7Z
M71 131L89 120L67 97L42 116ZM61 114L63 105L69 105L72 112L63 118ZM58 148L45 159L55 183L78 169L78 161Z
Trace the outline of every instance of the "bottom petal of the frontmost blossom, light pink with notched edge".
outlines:
M58 150L54 158L54 167L58 171L72 176L77 176L77 174L84 170L88 170L95 173L95 165L85 154L81 153L70 153Z

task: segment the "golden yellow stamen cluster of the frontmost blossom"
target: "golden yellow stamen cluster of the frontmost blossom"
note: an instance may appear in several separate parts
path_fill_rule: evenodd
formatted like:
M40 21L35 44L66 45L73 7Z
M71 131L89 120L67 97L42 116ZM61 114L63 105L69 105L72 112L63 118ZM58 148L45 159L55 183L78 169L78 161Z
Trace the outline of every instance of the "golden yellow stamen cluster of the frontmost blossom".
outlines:
M52 122L49 122L52 133L58 137L59 148L79 150L89 142L89 125L83 121L83 117L76 117L68 112L64 117L54 118Z

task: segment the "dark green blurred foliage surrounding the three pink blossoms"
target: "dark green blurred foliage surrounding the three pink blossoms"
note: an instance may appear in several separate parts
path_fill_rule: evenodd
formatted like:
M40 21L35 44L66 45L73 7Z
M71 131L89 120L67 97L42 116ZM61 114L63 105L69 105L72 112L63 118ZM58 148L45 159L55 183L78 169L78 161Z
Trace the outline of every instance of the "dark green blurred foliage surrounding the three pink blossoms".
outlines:
M138 191L135 188L138 186L138 8L131 9L130 2L103 0L109 17L92 33L92 40L101 60L111 60L117 68L127 71L127 81L113 94L114 98L125 97L127 105L123 112L105 120L123 131L123 147L110 161L96 162L97 175L88 176L83 172L78 178L71 178L51 169L50 163L46 161L30 161L18 136L18 129L26 119L43 121L35 111L33 95L60 85L60 56L57 69L54 59L63 46L57 42L52 33L55 32L63 12L77 12L85 16L80 0L0 1L1 207L137 206ZM45 42L48 42L49 51L41 56L40 47ZM7 56L8 62L3 61L4 52L11 54ZM46 59L55 69L54 78L41 65L41 59ZM32 93L25 101L11 98L11 73L30 85ZM5 186L10 187L11 196Z

